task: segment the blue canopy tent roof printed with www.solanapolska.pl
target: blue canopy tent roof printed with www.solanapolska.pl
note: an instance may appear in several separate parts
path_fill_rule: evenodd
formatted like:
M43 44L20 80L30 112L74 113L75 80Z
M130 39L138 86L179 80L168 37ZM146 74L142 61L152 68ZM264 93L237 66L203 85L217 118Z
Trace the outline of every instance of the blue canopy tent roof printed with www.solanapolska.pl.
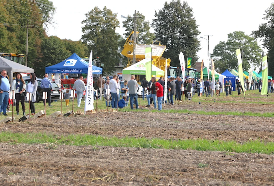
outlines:
M72 54L70 57L66 58L64 61L59 62L50 67L46 67L46 73L81 73L87 74L88 63L81 59L77 54ZM94 72L93 72L94 71ZM102 68L92 66L92 72L94 74L102 74Z

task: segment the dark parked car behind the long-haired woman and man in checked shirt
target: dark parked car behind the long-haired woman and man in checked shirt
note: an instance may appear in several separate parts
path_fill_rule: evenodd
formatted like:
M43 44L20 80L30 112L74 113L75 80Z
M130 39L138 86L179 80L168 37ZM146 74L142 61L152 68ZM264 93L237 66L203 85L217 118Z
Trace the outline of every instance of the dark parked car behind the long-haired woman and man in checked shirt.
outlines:
M23 77L24 81L26 82L26 85L29 81L29 76L24 76ZM42 92L43 89L41 88L41 81L42 79L36 78L38 87L37 87L37 97L36 97L36 102L38 103L39 101L42 100ZM51 81L52 87L51 87L51 102L54 100L60 100L60 88L57 86L57 84L54 81ZM47 102L47 101L46 101Z

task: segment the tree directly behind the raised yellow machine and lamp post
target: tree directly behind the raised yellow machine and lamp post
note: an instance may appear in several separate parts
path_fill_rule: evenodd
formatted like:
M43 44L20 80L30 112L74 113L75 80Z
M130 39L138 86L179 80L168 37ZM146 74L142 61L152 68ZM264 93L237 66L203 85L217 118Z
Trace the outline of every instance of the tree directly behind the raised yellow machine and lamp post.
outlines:
M127 17L128 18L123 21L123 27L126 28L126 33L124 33L125 38L130 35L131 31L134 31L134 14L132 17L129 15ZM139 13L139 11L136 12L136 17L136 31L139 32L137 44L151 44L155 35L149 31L149 21L145 21L145 16Z

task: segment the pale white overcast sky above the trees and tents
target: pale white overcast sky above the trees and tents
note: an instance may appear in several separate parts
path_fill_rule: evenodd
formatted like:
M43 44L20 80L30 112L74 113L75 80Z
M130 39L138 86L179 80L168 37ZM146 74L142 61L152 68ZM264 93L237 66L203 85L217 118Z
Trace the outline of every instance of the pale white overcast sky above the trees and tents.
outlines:
M120 28L116 30L121 35L125 32L122 27L121 15L127 16L134 14L137 10L141 12L145 19L150 23L155 19L155 11L159 12L166 1L90 1L90 0L51 0L56 7L54 15L54 27L47 29L48 35L56 35L61 39L80 40L82 35L81 21L85 19L85 14L95 6L103 9L106 6L113 13L117 13L120 21ZM167 2L170 2L169 0ZM207 41L200 36L212 35L209 38L209 52L212 53L215 45L220 41L227 41L227 35L234 31L243 31L250 35L252 31L258 29L258 25L265 22L263 20L265 10L269 8L274 0L249 1L249 0L189 0L188 5L193 9L193 15L196 20L201 35L198 36L201 41L201 50L197 53L202 61L207 56ZM181 1L183 3L183 1ZM261 43L261 42L260 42ZM266 50L264 50L266 52ZM236 54L235 54L236 55ZM179 56L179 54L178 54Z

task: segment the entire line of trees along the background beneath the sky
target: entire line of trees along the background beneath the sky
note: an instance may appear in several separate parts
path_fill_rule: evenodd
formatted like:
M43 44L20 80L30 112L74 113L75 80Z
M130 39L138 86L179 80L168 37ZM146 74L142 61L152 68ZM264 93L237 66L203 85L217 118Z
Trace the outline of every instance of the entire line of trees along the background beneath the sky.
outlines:
M258 26L257 31L251 35L245 35L242 31L228 33L227 41L220 41L210 55L215 61L215 67L220 72L225 69L237 69L238 63L235 54L237 48L241 48L243 69L260 67L262 49L258 46L257 38L262 39L263 46L268 50L269 74L273 75L273 38L274 34L274 3L266 10L264 19L267 23ZM28 66L35 69L38 75L44 74L47 66L57 64L74 52L80 57L89 56L93 50L94 56L99 56L104 62L104 72L113 72L113 67L119 63L126 64L127 59L121 56L126 38L134 30L134 17L128 15L123 27L126 30L124 36L116 33L119 26L117 14L106 6L101 10L94 7L85 14L85 20L81 23L82 37L80 41L60 39L56 36L47 36L46 28L52 24L55 7L49 0L2 0L0 2L0 51L22 53L26 52L26 26L29 25ZM160 41L166 45L163 54L165 58L171 58L172 66L180 66L178 54L192 58L192 64L197 62L200 50L200 34L194 18L192 8L186 1L180 0L165 2L163 8L155 11L156 19L150 23L141 12L137 12L138 44L152 44ZM154 32L150 32L150 26ZM186 59L185 59L186 60Z

